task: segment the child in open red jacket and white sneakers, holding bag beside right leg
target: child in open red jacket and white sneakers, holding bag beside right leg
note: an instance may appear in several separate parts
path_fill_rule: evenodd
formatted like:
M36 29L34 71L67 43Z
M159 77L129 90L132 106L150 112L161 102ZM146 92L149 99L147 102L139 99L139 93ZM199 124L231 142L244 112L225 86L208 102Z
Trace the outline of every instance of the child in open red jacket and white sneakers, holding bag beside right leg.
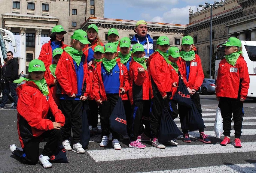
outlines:
M102 128L102 141L99 146L108 145L109 130L112 133L112 146L120 150L119 134L110 129L109 117L119 97L128 100L126 92L129 90L127 68L120 63L117 56L117 47L114 43L105 45L102 63L97 65L93 76L93 95L100 105L100 124Z

